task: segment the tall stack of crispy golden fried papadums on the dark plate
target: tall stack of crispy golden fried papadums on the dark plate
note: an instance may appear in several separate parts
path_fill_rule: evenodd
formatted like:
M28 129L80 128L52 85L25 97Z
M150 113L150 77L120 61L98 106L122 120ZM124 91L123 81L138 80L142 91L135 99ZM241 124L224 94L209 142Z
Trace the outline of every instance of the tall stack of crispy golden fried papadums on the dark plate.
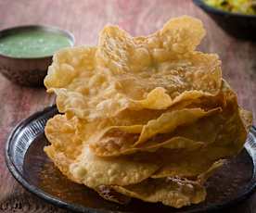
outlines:
M218 56L195 50L204 35L185 16L147 37L107 26L97 46L59 51L45 77L61 113L45 127L47 156L111 201L204 201L204 182L243 148L252 120Z

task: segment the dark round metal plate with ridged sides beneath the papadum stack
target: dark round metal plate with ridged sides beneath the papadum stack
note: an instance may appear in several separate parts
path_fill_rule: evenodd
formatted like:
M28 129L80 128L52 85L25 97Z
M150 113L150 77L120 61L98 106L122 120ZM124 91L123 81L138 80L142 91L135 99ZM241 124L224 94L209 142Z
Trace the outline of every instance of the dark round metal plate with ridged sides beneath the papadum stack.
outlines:
M47 119L58 113L47 107L25 119L6 143L6 164L27 190L46 201L81 212L198 212L230 206L249 195L256 185L256 129L253 127L243 151L229 160L207 182L207 199L191 207L175 209L137 199L126 206L111 203L87 187L70 182L45 156L44 128Z

